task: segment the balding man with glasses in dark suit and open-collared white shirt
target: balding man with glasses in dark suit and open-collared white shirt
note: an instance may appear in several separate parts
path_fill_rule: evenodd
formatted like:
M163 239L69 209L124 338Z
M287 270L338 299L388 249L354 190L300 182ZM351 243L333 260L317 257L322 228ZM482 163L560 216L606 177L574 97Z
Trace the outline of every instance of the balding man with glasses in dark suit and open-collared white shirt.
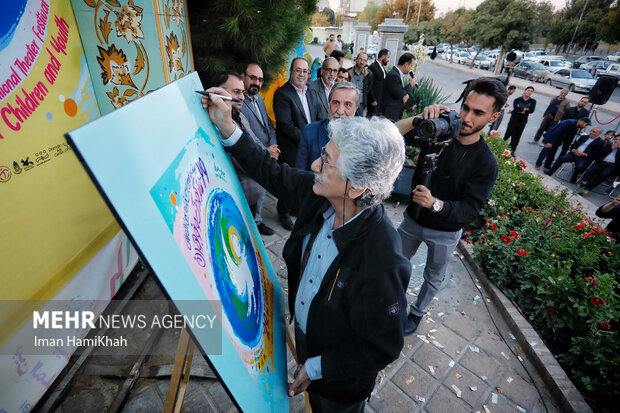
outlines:
M276 136L280 148L280 163L295 165L297 150L304 127L316 120L314 97L308 92L308 62L296 57L291 63L289 81L273 94L273 113L276 117ZM281 200L277 205L280 224L289 231L293 228L290 211Z

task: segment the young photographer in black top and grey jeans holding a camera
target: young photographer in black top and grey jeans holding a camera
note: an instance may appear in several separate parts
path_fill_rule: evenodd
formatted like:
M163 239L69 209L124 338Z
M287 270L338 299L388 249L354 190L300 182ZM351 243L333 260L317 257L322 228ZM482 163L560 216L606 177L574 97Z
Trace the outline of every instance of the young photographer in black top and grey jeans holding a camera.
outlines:
M438 154L437 168L431 175L429 187L415 185L413 188L412 200L398 228L403 255L411 258L424 242L428 246L428 256L424 283L416 303L410 308L405 334L412 334L417 329L428 304L442 284L462 228L482 208L495 184L497 161L480 134L485 126L499 117L507 98L506 87L497 79L479 78L471 82L461 106L462 125L452 134L458 136ZM437 119L444 111L449 109L443 105L431 105L424 108L423 118ZM413 129L412 123L405 119L399 121L397 126L401 133L406 133ZM436 139L445 141L452 136ZM436 145L432 142L427 144L426 152L433 146ZM424 152L423 148L421 160ZM414 184L420 181L420 169L416 168ZM416 218L417 205L420 211Z

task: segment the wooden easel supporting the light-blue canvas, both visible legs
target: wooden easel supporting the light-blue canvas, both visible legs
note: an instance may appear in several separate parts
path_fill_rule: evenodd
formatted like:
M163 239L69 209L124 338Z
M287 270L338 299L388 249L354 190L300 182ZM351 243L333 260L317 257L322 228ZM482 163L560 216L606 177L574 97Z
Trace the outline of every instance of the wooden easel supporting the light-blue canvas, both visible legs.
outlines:
M286 344L288 345L295 362L297 362L297 352L295 351L295 338L291 334L291 330L286 327ZM187 383L189 382L192 361L194 359L194 342L187 330L181 330L179 344L177 345L177 354L174 358L174 367L170 376L170 387L168 396L166 396L166 404L164 405L164 413L179 413L183 406ZM181 375L183 377L181 377ZM182 379L182 380L181 380ZM308 393L305 392L306 413L312 413L310 408L310 399Z

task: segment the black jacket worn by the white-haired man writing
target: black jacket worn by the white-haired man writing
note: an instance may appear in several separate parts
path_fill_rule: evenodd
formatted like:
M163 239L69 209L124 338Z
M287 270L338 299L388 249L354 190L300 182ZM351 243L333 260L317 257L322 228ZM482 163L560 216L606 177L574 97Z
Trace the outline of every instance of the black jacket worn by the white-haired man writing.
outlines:
M312 191L311 172L279 165L247 134L228 149L265 189L297 212L282 252L293 315L302 243L306 235L319 231L330 203ZM322 356L323 375L310 384L309 391L336 401L356 402L370 395L377 373L400 355L411 265L401 253L400 237L383 205L365 209L354 221L335 230L334 241L338 255L308 313L308 357Z

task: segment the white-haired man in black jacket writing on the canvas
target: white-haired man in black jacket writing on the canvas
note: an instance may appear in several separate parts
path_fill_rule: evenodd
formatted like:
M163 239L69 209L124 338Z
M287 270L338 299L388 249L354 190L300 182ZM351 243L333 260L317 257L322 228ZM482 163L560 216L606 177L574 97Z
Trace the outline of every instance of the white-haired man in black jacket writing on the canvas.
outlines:
M312 172L302 171L235 127L229 103L211 95L203 106L243 168L297 212L282 252L300 363L289 396L307 389L313 411L363 412L404 343L411 265L382 203L404 162L402 136L386 119L331 121Z

